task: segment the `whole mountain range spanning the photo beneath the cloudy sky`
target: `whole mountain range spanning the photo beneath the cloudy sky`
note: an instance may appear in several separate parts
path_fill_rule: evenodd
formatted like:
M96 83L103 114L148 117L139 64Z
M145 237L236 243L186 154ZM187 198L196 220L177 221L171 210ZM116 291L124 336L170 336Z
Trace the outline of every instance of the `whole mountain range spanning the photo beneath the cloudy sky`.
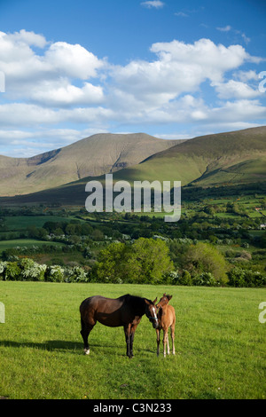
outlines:
M32 158L0 156L4 201L84 204L90 179L155 179L182 185L239 185L266 180L266 126L170 141L144 133L99 134Z

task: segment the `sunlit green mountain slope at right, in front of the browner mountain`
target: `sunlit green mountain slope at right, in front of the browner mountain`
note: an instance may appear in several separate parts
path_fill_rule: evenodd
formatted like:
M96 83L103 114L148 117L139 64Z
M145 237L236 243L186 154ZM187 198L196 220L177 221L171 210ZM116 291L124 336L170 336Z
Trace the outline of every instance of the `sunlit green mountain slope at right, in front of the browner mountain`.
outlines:
M114 177L226 185L266 179L266 126L193 138ZM223 184L224 183L224 184Z

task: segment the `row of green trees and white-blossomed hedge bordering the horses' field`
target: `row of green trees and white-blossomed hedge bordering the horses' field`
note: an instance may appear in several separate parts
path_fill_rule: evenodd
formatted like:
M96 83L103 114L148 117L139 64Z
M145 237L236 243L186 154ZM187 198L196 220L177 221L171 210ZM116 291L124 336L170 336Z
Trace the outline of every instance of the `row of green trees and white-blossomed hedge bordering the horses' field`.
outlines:
M170 246L170 248L169 248ZM178 262L175 259L178 255ZM0 279L51 282L104 282L196 286L265 287L262 271L229 266L207 243L139 238L113 242L89 266L37 264L30 258L0 262Z

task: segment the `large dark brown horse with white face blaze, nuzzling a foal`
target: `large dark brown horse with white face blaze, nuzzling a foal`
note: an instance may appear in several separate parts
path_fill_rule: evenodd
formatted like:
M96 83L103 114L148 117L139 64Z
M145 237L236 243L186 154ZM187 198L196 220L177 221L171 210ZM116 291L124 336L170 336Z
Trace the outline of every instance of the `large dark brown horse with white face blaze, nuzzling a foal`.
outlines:
M158 318L155 310L157 298L152 302L147 298L135 295L122 295L119 298L106 298L95 295L86 298L80 306L82 322L82 338L84 342L84 353L89 355L90 347L88 337L97 321L108 327L124 327L127 343L127 355L133 358L133 341L137 325L145 314L158 327Z

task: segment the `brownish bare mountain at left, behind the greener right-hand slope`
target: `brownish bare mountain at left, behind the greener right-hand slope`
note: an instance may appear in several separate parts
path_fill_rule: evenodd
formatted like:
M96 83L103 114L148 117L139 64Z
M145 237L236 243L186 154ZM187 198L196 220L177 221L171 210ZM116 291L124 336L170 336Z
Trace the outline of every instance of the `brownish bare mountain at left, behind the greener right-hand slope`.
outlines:
M115 172L181 142L145 133L98 134L31 158L0 155L0 195L35 193Z

